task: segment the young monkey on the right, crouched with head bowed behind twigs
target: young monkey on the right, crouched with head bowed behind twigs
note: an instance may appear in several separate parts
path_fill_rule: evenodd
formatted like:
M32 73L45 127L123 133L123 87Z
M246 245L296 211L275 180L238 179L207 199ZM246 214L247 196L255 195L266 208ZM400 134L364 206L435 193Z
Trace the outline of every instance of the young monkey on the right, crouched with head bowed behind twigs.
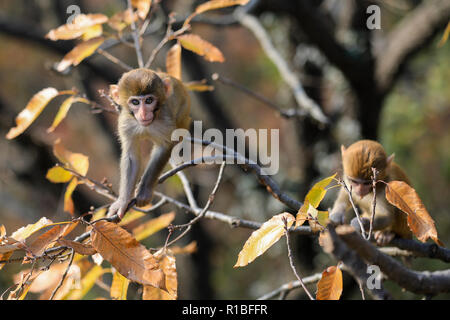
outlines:
M355 205L360 209L361 220L369 230L372 215L373 189L372 168L377 170L377 180L385 182L400 180L410 184L404 171L393 161L394 155L387 156L381 144L371 140L360 140L347 149L342 146L343 179L351 188ZM407 216L387 202L385 184L376 185L376 210L373 221L374 237L379 245L386 245L395 235L411 238ZM351 217L354 217L351 219ZM358 231L361 227L351 208L348 193L342 187L330 213L330 219L338 224L351 223ZM350 221L351 219L351 221Z

